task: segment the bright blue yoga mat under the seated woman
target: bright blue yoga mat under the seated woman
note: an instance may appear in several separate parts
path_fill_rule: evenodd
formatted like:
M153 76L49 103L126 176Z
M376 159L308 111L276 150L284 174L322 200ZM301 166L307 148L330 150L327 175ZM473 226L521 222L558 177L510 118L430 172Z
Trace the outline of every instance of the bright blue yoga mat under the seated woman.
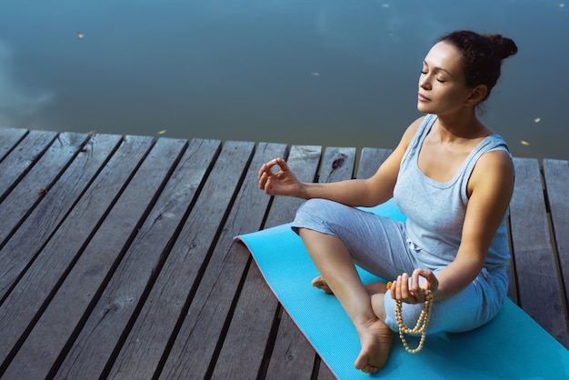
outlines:
M365 210L404 220L393 201ZM286 312L340 379L569 378L569 351L509 299L490 323L464 334L427 335L423 350L414 355L396 336L387 365L375 375L364 374L354 369L360 352L354 325L334 295L310 285L318 271L290 224L236 239L251 251ZM364 283L381 281L358 271ZM415 342L409 339L410 346Z

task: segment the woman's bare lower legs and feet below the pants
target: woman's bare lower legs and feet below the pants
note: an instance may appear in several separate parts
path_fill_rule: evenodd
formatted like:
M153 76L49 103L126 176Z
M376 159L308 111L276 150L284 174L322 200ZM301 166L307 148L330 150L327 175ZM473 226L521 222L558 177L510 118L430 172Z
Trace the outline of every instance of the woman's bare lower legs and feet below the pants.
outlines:
M362 349L355 368L376 373L387 362L394 340L394 332L384 324L384 285L362 284L350 252L338 237L306 228L300 228L299 235L323 277L322 283L344 306L359 335Z

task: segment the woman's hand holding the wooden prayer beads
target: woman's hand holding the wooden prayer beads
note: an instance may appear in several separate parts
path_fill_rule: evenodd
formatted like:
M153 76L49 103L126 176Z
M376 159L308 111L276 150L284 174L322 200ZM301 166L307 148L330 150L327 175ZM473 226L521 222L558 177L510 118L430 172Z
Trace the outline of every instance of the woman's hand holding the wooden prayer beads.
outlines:
M426 281L419 285L419 276ZM439 281L433 271L429 269L415 269L411 275L411 285L409 285L409 275L404 273L397 277L391 285L391 297L394 300L401 300L405 304L423 304L424 291L430 290L435 296L439 286Z

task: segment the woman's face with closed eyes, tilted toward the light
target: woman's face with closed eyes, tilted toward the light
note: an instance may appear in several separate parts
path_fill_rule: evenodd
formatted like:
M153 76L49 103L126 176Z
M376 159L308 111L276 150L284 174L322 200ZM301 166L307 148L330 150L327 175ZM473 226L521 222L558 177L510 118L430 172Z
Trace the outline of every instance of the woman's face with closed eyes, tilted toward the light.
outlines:
M434 45L423 61L417 109L424 114L453 113L464 109L471 94L459 50L444 41Z

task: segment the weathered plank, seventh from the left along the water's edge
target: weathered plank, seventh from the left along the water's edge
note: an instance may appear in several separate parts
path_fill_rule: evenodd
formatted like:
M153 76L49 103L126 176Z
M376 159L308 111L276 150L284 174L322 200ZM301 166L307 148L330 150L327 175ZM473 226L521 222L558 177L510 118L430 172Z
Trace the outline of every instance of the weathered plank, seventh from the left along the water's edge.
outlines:
M85 374L99 378L103 374L121 336L129 330L128 324L135 315L136 306L145 299L148 286L155 280L165 259L163 253L172 244L179 225L184 223L188 205L195 203L198 190L220 150L220 141L193 140L190 143L106 285L103 296L65 355L56 378L78 379L85 378Z

